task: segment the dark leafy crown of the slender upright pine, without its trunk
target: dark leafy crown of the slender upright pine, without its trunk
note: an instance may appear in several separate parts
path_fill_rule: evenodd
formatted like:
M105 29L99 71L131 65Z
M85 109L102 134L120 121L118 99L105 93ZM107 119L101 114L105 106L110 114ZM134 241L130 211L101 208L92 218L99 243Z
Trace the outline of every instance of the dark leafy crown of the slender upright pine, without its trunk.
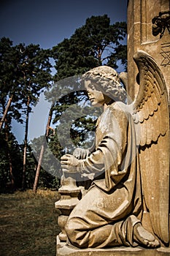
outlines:
M50 50L43 50L39 45L17 45L20 52L20 62L18 63L18 80L16 81L21 89L20 100L26 103L23 95L29 97L31 104L36 102L39 93L43 91L52 80L49 61Z

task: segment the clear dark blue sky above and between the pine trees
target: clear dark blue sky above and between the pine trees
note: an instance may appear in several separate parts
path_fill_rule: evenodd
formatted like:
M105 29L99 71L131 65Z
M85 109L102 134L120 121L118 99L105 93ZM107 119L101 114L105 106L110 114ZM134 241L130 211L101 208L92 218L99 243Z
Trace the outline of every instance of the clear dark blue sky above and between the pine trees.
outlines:
M9 37L13 45L31 43L53 48L74 34L92 15L107 14L111 24L127 20L126 0L1 0L0 37ZM12 123L19 143L23 127ZM45 127L43 127L45 130Z

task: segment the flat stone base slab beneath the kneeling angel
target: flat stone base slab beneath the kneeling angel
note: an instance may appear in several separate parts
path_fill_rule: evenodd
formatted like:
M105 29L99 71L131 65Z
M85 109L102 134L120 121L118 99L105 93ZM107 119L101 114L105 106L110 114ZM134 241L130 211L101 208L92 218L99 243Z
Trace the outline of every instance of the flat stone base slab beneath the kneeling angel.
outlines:
M170 248L143 249L142 247L115 247L109 249L74 249L57 236L56 256L170 256Z

